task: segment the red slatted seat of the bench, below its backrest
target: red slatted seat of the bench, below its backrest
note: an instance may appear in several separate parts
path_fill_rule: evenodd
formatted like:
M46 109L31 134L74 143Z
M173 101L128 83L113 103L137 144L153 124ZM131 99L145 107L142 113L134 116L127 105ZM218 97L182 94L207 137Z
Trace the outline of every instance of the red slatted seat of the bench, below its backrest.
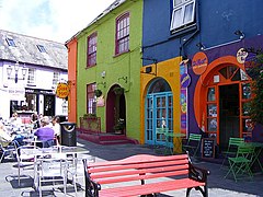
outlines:
M153 193L163 193L169 190L183 189L188 187L204 186L199 182L182 178L165 182L150 183L146 185L133 185L117 188L104 188L99 194L100 197L132 197L138 195L147 195Z

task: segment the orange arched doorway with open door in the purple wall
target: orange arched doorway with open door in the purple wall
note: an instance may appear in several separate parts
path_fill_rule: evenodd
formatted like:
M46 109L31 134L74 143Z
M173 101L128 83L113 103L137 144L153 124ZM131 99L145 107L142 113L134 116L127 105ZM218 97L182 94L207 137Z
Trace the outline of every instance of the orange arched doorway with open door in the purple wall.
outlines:
M202 130L225 150L230 137L252 137L248 115L251 79L238 63L215 62L196 84L195 116Z

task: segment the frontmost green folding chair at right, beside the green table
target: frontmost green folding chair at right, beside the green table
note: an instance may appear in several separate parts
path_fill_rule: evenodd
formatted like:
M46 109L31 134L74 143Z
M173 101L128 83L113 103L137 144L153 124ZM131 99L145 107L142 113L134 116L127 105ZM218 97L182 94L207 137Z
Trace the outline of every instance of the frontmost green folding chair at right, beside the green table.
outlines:
M225 178L231 173L235 181L244 178L245 175L252 179L251 162L253 161L254 147L242 143L238 147L238 152L235 158L228 158L229 171Z

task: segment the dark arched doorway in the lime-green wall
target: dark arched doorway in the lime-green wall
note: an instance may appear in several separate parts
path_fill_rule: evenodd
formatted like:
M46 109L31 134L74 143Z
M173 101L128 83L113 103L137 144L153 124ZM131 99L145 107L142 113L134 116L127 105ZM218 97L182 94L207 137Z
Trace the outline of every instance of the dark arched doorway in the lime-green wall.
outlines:
M113 85L106 99L106 132L126 135L126 102L124 89Z

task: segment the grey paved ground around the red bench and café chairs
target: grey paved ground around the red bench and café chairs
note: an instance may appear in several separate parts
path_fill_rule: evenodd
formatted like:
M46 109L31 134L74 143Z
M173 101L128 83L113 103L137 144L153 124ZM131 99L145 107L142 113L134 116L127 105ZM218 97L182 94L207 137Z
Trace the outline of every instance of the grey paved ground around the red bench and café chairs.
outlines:
M85 140L78 139L78 146L84 147L90 151L90 154L95 157L96 161L111 161L124 159L134 154L158 154L151 147L140 146L140 144L115 144L115 146L101 146L95 144ZM208 176L208 190L210 197L258 197L263 196L263 174L255 175L253 181L240 181L236 183L233 179L227 178L227 171L221 170L219 164L204 162L204 161L195 161L196 165L208 169L210 171L210 175ZM26 196L26 197L36 197L38 196L37 192L34 192L32 186L32 174L31 177L27 178L23 188L18 188L14 179L12 178L18 174L18 169L14 167L15 162L5 161L4 163L0 163L0 196L1 197L18 197L18 196ZM26 173L26 171L22 171L22 173ZM8 181L7 181L7 179ZM67 192L68 196L75 196L73 187L69 185L69 189ZM59 189L54 192L49 192L43 196L57 196L62 197L64 193ZM83 190L78 192L78 196L84 196ZM159 195L160 197L176 197L176 196L185 196L185 189L164 193ZM202 196L199 192L192 190L192 197Z

